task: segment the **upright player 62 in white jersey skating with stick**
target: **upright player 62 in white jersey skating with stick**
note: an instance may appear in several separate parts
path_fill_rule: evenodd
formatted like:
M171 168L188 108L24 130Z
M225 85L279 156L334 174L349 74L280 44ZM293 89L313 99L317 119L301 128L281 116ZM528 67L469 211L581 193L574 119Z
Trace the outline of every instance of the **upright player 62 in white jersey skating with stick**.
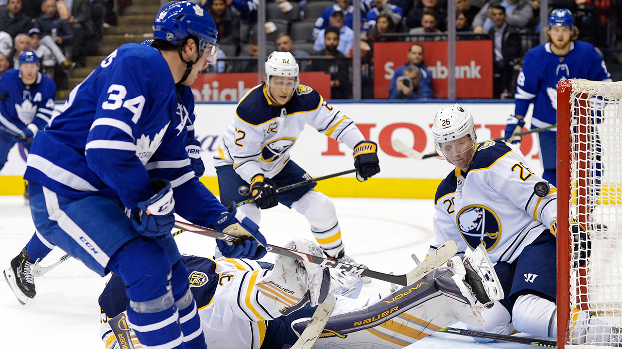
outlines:
M360 181L380 171L376 143L365 140L355 123L317 91L299 84L299 66L291 53L272 52L266 61L266 83L239 101L214 157L220 201L228 206L252 197L255 204L239 210L257 224L260 208L281 202L309 220L313 237L328 256L351 263L344 254L335 206L313 190L315 184L276 193L278 187L310 178L289 157L306 124L354 150Z

